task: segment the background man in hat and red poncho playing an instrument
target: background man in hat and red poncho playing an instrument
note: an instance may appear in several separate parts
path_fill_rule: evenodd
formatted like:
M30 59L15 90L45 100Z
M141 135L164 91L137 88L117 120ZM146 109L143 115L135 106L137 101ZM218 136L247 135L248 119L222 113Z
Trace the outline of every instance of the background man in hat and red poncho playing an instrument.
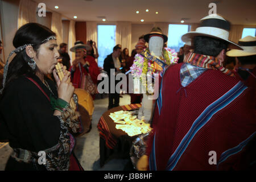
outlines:
M100 70L94 57L86 55L88 49L90 49L90 46L80 40L75 42L75 46L70 49L70 51L76 52L76 59L73 60L70 68L71 81L75 88L85 89L94 98Z

